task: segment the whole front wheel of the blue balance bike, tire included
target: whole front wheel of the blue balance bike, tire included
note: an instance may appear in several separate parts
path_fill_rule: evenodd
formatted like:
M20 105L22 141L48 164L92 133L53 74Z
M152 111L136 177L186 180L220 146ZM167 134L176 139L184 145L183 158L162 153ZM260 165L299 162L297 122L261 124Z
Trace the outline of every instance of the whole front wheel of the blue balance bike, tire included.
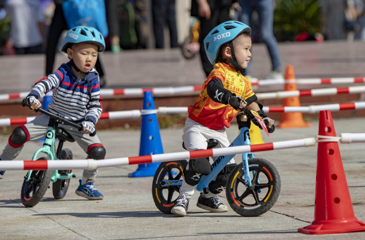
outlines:
M268 160L248 160L251 188L246 188L242 162L228 177L226 197L231 208L241 216L255 217L269 211L280 194L281 182L276 168Z

